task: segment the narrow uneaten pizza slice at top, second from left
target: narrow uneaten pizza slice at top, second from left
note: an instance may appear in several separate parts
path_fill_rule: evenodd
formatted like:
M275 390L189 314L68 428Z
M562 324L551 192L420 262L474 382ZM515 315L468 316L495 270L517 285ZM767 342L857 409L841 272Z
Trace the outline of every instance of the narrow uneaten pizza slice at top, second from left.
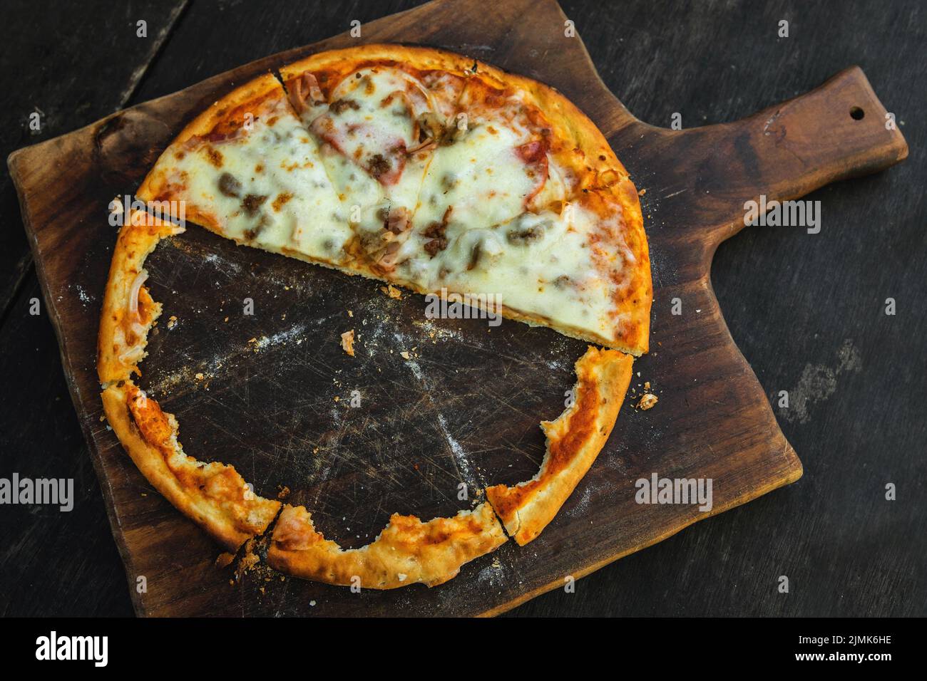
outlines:
M355 255L371 270L362 273L387 276L411 233L436 131L447 124L464 79L319 57L286 66L281 76L348 206Z

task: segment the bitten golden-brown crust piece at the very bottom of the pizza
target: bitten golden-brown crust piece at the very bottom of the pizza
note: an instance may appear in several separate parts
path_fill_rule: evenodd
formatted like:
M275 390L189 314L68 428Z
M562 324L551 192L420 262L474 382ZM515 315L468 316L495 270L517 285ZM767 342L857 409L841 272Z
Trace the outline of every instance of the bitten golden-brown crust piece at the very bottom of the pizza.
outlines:
M344 550L315 531L309 511L287 505L273 528L267 560L277 570L326 584L375 589L437 586L460 572L465 562L505 541L502 525L489 504L482 503L473 511L427 523L393 513L372 543Z

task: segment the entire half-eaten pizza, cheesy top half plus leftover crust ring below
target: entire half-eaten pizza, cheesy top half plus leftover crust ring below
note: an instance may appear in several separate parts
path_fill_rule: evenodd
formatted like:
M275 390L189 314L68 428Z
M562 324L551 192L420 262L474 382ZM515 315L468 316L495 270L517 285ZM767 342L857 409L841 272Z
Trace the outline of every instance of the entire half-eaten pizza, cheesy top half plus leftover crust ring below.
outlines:
M223 546L268 536L268 563L288 574L436 586L509 537L537 537L610 435L633 357L648 344L638 195L563 95L473 59L365 45L279 74L236 87L192 120L136 193L148 211L124 215L99 329L104 411L148 481ZM578 359L570 406L541 422L547 452L534 478L482 490L485 500L450 518L393 514L372 543L342 549L315 530L311 511L185 453L176 418L135 383L161 312L145 259L161 239L181 238L184 221L390 290L472 296L602 348Z

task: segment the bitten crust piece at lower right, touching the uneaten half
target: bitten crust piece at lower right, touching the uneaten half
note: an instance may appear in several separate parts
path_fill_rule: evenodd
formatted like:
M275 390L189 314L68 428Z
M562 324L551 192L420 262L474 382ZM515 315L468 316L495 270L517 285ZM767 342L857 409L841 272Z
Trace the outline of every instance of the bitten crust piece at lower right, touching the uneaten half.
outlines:
M629 355L590 347L577 360L575 401L556 421L540 423L547 452L540 471L514 487L497 485L486 496L509 533L524 546L540 535L599 455L631 378Z

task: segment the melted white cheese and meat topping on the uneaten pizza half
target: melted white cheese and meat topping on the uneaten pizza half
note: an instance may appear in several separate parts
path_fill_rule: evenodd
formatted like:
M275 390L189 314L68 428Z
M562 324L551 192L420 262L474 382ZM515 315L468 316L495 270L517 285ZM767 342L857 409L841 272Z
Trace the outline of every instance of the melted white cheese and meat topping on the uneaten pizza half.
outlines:
M158 165L171 197L239 242L420 291L501 296L529 321L616 338L633 264L620 208L577 196L536 107L476 77L387 66L349 74L326 101L308 82L298 115L281 90L249 130L169 150Z

